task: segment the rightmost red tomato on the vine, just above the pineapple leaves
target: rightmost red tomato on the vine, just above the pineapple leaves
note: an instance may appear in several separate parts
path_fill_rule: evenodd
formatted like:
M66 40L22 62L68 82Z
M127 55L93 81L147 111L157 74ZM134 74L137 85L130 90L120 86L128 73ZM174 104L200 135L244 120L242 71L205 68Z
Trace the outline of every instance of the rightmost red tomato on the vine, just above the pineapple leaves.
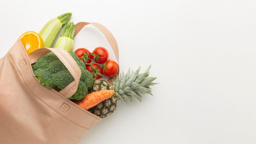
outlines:
M105 64L104 74L109 77L113 77L118 72L118 64L114 60L108 60Z

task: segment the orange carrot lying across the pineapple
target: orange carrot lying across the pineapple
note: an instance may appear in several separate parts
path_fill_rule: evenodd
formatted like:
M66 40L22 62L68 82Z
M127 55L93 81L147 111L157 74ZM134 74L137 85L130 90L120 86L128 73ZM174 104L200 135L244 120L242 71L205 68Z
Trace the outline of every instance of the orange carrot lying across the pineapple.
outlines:
M83 107L85 110L89 110L91 107L97 105L105 99L108 99L114 95L114 90L100 90L89 93L84 99L75 101L77 105Z

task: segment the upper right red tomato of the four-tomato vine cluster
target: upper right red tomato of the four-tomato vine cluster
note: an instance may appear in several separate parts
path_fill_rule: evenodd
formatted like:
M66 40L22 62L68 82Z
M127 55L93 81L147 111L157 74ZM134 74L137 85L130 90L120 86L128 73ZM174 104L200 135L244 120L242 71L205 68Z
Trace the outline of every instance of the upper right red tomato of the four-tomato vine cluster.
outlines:
M109 58L109 52L104 47L101 47L101 46L100 47L96 47L93 50L93 54L96 54L94 56L94 62L96 62L96 63L104 63ZM99 57L102 57L102 58L99 58ZM97 59L98 59L98 61L97 61Z

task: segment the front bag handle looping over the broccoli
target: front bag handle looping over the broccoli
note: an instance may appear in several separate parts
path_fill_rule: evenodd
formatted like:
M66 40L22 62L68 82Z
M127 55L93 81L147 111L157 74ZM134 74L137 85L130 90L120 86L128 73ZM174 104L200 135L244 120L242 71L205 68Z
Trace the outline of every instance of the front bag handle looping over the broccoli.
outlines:
M59 58L59 60L65 65L65 67L74 77L74 81L59 92L66 98L70 98L77 90L81 77L81 69L67 51L60 48L39 48L28 55L30 63L32 64L36 62L38 58L45 56L51 51Z

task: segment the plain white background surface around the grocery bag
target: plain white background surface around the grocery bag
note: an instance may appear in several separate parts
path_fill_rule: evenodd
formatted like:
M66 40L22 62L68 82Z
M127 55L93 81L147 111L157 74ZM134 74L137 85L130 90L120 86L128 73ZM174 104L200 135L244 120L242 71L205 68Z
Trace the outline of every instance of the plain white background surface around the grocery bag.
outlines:
M254 0L1 1L0 57L20 34L65 12L113 33L121 71L152 64L160 83L154 97L118 103L80 144L256 143ZM92 26L77 36L75 49L110 49Z

